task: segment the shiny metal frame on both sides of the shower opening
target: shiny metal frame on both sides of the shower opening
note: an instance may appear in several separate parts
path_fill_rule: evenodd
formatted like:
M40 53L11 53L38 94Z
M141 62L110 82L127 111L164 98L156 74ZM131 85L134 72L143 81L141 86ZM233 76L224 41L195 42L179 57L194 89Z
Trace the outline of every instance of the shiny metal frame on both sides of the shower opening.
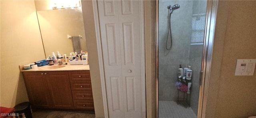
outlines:
M218 0L207 0L197 118L205 118ZM156 0L156 118L158 118L158 0Z

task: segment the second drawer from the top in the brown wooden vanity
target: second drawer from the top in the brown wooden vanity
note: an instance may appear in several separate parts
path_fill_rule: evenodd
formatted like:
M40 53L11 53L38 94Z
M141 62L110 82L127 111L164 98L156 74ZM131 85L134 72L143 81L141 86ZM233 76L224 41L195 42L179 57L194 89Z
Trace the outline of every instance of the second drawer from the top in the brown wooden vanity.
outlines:
M92 91L92 84L91 82L70 82L71 84L71 90L86 90L86 91Z

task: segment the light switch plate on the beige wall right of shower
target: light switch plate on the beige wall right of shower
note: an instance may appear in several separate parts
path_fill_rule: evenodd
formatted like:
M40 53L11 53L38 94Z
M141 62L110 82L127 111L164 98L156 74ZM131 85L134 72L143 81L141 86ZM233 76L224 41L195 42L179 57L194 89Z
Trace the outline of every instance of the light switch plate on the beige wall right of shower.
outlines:
M235 76L252 76L254 74L256 59L238 59L236 61Z

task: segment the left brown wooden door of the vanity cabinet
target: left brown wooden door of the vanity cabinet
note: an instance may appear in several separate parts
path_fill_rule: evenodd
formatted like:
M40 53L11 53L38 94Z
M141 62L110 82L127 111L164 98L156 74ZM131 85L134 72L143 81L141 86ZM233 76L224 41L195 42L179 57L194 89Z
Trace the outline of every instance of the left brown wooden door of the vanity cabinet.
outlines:
M51 99L44 72L23 72L28 98L32 107L51 108Z

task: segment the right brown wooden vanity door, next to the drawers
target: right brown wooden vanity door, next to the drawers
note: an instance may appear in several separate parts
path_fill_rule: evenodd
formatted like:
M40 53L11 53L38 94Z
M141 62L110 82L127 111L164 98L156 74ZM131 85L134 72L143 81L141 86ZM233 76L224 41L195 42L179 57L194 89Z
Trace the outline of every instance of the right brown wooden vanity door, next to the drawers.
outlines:
M68 72L46 72L52 108L74 108Z

